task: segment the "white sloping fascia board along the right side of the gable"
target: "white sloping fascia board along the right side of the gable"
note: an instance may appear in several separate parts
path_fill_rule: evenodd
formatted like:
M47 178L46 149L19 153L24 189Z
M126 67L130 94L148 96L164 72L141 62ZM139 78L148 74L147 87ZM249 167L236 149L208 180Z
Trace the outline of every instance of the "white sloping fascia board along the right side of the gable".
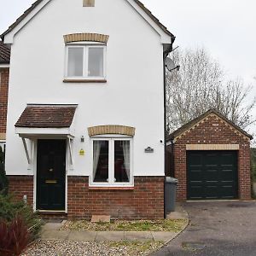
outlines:
M154 28L154 31L157 32L161 37L161 44L171 44L172 43L172 37L167 35L166 32L164 32L160 26L157 26L154 22L154 20L151 19L151 17L148 16L148 14L141 9L137 3L133 0L126 0L128 3L130 3L131 7L133 7L139 15L143 17L144 20L146 20L149 24L149 26L152 26Z

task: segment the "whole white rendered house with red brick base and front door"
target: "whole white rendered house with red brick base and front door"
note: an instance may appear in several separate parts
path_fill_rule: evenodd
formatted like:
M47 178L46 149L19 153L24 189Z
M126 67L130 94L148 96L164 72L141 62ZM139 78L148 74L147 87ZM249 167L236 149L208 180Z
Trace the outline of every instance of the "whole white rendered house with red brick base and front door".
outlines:
M172 33L137 0L38 0L2 38L10 191L69 218L163 218Z

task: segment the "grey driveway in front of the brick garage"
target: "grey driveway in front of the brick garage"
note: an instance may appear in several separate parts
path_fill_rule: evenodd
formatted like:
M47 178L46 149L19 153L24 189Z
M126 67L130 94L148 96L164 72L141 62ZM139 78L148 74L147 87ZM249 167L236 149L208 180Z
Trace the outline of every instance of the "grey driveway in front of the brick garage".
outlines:
M186 202L187 230L154 256L255 256L256 202Z

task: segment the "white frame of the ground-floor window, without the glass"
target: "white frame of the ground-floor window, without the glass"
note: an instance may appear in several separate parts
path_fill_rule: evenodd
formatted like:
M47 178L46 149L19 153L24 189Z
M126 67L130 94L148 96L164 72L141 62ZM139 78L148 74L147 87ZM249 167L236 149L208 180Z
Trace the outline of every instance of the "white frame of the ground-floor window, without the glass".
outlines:
M96 183L93 181L93 142L94 141L108 141L108 183ZM114 142L115 141L129 141L130 142L130 182L129 183L116 183L114 182ZM108 136L96 136L90 140L91 148L91 164L90 164L90 187L108 187L108 188L120 188L120 187L133 187L133 138L132 137L108 137Z

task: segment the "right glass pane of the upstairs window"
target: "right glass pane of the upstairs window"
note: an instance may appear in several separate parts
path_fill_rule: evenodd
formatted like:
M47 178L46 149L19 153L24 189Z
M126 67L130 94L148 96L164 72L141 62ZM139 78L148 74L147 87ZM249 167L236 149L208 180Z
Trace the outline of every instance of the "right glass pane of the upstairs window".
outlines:
M89 48L88 76L103 77L103 48Z

